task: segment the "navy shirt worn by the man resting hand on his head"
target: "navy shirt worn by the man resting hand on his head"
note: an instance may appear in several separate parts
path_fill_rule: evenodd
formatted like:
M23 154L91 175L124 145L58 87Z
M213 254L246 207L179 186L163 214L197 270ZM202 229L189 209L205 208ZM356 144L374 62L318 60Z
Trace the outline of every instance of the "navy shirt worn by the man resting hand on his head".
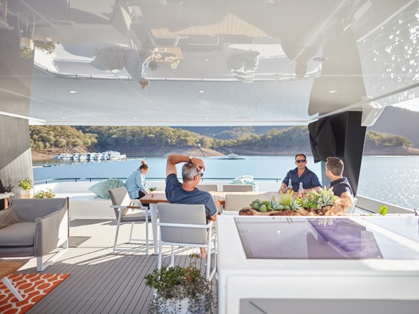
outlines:
M175 204L204 204L208 216L216 213L214 200L210 193L205 190L184 190L176 174L169 174L166 178L166 198Z

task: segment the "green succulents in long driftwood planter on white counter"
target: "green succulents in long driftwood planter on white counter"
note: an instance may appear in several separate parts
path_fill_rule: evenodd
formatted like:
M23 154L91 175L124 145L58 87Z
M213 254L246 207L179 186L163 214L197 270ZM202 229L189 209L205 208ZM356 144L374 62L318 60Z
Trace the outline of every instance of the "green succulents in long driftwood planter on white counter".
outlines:
M280 193L279 200L253 200L239 211L243 216L338 216L348 209L348 201L333 194L332 188L307 193L307 197L293 197L293 192Z

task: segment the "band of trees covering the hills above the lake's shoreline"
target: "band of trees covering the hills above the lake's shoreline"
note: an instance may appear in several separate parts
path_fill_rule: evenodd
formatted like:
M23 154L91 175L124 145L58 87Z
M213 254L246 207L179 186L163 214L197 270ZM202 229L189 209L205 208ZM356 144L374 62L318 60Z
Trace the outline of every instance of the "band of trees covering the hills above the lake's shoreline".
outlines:
M179 148L197 145L214 150L249 147L255 151L272 147L309 147L309 131L306 126L293 126L281 130L272 128L264 134L251 133L249 129L247 132L242 132L241 128L231 129L231 134L235 134L235 137L221 140L167 126L29 126L31 148L38 150L75 147L89 151L113 149L125 153L128 148L135 151L142 147ZM412 142L406 137L374 130L367 131L365 144L376 148L412 147Z

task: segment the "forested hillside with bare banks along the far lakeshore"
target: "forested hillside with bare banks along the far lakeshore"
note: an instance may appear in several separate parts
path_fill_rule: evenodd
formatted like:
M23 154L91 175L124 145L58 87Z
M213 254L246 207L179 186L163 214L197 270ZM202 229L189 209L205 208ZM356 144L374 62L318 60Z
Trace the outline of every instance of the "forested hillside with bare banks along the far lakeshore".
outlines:
M251 128L231 128L220 133L235 134L230 140L219 140L189 130L151 126L30 126L31 148L44 155L64 151L116 150L127 156L166 156L172 151L207 149L214 153L234 151L244 155L288 155L296 151L310 154L306 126L271 128L256 134ZM418 154L411 141L399 135L367 132L365 154ZM378 153L377 153L378 151ZM405 153L405 151L408 151ZM203 151L201 151L203 152ZM203 153L205 154L205 153Z

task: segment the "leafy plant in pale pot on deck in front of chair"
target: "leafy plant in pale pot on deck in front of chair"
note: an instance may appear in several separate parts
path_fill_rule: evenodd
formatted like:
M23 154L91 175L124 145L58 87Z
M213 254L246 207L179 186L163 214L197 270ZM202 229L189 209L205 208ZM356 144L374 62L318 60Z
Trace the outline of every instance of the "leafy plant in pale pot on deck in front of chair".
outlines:
M196 267L198 254L189 257L188 267L161 267L145 276L154 289L148 313L207 313L216 305L210 281Z

